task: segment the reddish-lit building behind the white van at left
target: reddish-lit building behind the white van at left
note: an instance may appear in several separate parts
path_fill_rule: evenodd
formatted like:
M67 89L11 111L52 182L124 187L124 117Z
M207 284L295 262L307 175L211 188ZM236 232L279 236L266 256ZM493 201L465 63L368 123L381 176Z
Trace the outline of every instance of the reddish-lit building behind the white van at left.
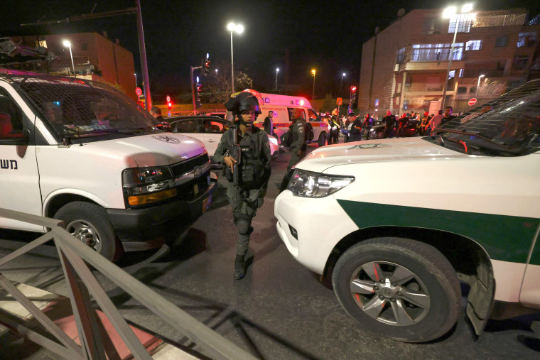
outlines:
M122 48L119 40L109 40L107 33L13 36L10 39L23 48L39 49L46 57L14 57L13 62L4 62L1 67L72 75L70 48L63 45L64 40L69 40L77 77L112 84L131 99L137 99L133 54Z

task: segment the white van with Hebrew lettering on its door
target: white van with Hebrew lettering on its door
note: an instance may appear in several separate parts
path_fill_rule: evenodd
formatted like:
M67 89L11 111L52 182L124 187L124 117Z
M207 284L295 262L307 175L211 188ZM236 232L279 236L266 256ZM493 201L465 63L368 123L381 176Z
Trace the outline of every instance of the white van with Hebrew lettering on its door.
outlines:
M11 71L11 70L10 70ZM163 244L212 202L204 145L99 82L0 74L0 207L64 220L109 259ZM45 231L0 218L0 227Z

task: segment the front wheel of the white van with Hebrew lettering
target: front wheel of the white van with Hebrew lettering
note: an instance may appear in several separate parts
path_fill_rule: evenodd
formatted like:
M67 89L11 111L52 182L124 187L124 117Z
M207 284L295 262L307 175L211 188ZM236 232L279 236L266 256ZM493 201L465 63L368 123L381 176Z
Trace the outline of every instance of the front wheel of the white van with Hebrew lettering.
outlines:
M110 261L121 252L114 228L103 207L90 202L75 201L56 212L55 219L65 222L65 229Z

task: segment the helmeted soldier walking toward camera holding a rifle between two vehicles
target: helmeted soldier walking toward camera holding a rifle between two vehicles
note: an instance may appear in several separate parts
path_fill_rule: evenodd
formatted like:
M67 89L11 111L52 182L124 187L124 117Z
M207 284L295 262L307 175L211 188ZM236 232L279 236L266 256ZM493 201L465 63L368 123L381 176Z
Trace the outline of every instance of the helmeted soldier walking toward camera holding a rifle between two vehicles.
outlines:
M227 198L238 229L234 279L240 280L246 275L245 256L253 232L252 218L262 206L268 187L271 153L268 135L253 126L261 114L257 97L241 92L229 99L225 107L232 112L234 125L223 133L214 160L225 164L225 177L229 180Z

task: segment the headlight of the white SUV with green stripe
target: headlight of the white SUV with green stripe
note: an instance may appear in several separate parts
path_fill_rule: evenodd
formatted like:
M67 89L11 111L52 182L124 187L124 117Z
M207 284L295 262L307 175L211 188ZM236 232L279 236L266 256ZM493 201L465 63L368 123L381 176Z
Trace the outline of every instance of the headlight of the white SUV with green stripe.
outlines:
M325 197L353 181L353 176L326 175L296 169L288 182L287 190L301 197Z

